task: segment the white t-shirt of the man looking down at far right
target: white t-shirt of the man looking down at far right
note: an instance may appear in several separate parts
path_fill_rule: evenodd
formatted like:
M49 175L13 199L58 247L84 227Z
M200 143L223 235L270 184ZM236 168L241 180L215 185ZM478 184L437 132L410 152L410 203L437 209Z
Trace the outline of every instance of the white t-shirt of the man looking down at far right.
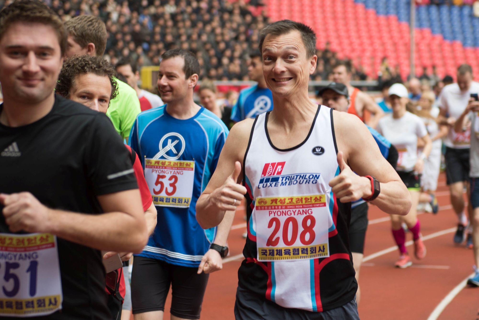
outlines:
M439 108L445 110L448 116L457 119L466 109L471 93L479 93L478 82L472 81L468 91L461 91L457 83L448 84L439 96ZM453 149L468 149L470 148L470 135L470 129L456 133L454 128L450 127L444 144Z

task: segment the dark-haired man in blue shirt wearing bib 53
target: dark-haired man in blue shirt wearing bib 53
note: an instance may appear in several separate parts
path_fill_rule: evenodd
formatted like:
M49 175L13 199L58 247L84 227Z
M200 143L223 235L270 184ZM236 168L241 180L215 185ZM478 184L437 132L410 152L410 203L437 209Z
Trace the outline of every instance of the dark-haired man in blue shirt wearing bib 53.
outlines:
M215 114L193 101L200 65L189 51L161 56L158 91L166 104L138 115L130 145L142 161L158 211L157 226L135 256L131 297L136 319L162 319L172 287L171 315L200 319L208 274L221 258L234 212L217 228L196 221L196 200L216 169L228 129Z

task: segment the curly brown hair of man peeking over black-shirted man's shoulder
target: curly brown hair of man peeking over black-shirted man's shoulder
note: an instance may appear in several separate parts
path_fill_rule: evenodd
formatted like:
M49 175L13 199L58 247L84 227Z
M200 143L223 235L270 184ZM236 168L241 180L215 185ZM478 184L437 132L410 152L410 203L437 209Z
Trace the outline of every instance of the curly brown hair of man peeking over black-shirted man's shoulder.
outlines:
M116 94L118 93L118 84L114 79L116 72L112 64L102 57L91 57L88 55L73 56L65 60L60 75L58 76L56 92L69 99L70 91L75 87L75 78L87 73L108 77L112 85L110 101L116 97Z

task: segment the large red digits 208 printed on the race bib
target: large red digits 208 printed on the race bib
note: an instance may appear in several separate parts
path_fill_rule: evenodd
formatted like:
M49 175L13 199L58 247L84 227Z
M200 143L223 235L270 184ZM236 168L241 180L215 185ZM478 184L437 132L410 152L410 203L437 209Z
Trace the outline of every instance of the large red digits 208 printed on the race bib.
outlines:
M316 225L316 219L314 216L306 216L303 218L301 222L301 227L302 231L299 235L299 240L303 245L309 245L311 244L314 239L316 238L316 233L314 232L314 226ZM271 218L271 220L268 223L268 229L274 228L273 232L269 236L268 240L266 241L266 246L271 246L275 247L278 245L280 241L280 237L276 237L278 234L279 230L281 229L281 220L277 217ZM289 229L292 229L291 231L291 237L289 237ZM286 218L284 224L283 224L283 242L287 246L292 246L298 236L298 220L295 217L288 217Z

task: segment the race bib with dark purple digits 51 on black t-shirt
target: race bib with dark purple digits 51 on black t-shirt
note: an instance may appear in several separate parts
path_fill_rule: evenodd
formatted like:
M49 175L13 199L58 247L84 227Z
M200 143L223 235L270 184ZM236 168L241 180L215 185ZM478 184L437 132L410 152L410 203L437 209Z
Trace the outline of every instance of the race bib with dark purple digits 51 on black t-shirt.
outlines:
M0 316L37 317L63 301L57 237L0 233Z

